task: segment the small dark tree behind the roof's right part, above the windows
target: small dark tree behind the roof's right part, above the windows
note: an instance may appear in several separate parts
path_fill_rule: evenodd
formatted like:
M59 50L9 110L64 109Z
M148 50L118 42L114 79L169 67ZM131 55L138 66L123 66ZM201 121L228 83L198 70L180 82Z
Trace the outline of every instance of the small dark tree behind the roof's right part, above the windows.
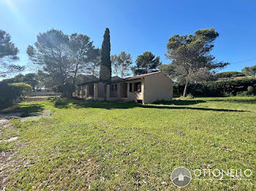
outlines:
M135 75L147 74L161 66L160 57L155 56L152 52L144 52L143 55L138 55L135 61L136 65L132 67Z

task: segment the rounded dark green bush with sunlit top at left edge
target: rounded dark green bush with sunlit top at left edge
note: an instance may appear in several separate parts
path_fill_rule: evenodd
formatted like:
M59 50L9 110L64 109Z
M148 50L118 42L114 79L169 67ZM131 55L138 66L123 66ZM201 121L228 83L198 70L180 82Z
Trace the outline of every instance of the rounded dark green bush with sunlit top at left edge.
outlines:
M31 93L32 87L25 83L0 83L0 109L7 108L21 101Z

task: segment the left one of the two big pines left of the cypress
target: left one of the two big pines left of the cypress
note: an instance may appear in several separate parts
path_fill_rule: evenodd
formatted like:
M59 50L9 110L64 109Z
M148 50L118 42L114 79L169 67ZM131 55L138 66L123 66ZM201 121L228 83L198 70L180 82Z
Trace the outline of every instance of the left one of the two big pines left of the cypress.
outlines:
M64 84L69 77L69 36L62 31L52 29L40 33L27 53L32 63L37 64L55 85Z

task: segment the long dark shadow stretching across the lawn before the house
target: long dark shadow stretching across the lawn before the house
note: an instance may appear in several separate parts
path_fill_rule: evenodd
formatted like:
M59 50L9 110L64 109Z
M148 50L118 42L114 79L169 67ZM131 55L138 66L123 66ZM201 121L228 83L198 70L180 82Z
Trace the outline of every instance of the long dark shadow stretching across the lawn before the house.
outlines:
M196 104L194 101L169 101L169 104L182 105L184 103L189 103L190 105ZM203 103L206 101L201 101ZM167 102L166 102L167 104ZM197 100L198 104L198 100ZM136 104L134 102L115 102L115 101L78 101L78 100L58 100L55 101L54 106L59 109L69 109L69 108L102 108L102 109L130 109L135 107L140 108L151 108L151 109L192 109L192 110L202 110L202 111L216 111L216 112L246 112L242 110L233 109L210 109L203 107L187 107L187 106L158 106L156 104Z

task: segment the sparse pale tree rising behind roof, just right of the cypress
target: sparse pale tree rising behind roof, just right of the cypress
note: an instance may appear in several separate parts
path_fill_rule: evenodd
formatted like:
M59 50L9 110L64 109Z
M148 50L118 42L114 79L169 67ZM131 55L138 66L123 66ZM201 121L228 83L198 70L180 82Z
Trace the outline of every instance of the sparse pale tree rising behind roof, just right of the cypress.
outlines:
M127 52L122 51L119 55L111 55L111 63L113 73L116 76L128 77L131 71L132 56Z

